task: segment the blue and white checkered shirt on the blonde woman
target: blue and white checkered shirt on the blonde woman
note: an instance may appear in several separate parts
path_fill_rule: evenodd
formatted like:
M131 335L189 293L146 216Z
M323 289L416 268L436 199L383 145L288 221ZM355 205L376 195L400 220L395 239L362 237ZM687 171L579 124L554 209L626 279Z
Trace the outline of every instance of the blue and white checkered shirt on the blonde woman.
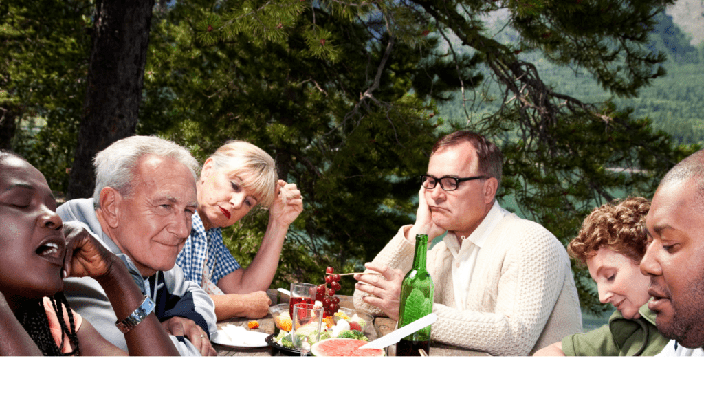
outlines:
M176 257L176 264L183 269L186 279L200 285L203 280L203 262L207 256L208 273L212 273L210 281L218 284L220 278L239 269L239 263L227 249L225 242L222 242L222 231L219 227L206 231L198 212L193 214L192 223L191 235Z

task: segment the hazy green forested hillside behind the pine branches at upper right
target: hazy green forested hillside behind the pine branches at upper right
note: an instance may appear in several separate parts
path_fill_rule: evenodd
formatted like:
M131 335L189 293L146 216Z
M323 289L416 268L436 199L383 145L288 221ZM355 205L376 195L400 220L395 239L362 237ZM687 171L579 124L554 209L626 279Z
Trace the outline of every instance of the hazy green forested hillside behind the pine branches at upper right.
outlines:
M536 65L541 77L557 92L590 103L612 99L620 108L633 109L634 116L649 118L653 128L669 133L681 143L704 143L704 42L698 48L693 47L689 37L672 22L672 17L662 13L658 19L650 35L650 49L667 55L664 65L667 75L641 89L637 97L612 97L583 70L555 66L533 54L522 55ZM515 33L508 28L501 30L504 23L501 18L494 22L497 37L503 42L513 42ZM479 120L483 113L493 113L501 105L494 101L498 93L495 85L487 82L483 92L477 92L476 96L474 93L465 95L464 102L460 94L456 94L451 101L439 104L440 116L447 122L444 128L450 130L456 125L466 125L463 103L472 122ZM455 123L455 127L450 123Z

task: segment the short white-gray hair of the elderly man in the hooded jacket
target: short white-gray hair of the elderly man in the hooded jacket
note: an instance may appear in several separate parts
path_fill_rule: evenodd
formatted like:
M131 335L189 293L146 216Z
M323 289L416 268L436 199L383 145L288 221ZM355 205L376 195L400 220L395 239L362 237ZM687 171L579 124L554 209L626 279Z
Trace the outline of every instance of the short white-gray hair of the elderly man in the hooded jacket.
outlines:
M198 180L201 166L187 149L156 136L130 136L114 142L95 156L95 190L93 200L96 209L100 206L100 192L112 187L122 196L129 197L134 185L134 169L139 159L146 155L168 158L182 163Z

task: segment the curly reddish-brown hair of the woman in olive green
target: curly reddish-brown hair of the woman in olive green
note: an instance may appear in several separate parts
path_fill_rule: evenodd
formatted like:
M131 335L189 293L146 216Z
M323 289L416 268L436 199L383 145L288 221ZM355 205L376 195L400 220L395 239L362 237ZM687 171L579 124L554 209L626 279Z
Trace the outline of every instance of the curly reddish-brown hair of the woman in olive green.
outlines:
M643 197L615 199L594 208L579 234L567 245L572 259L586 264L601 247L608 247L639 263L646 254L646 216L650 201Z

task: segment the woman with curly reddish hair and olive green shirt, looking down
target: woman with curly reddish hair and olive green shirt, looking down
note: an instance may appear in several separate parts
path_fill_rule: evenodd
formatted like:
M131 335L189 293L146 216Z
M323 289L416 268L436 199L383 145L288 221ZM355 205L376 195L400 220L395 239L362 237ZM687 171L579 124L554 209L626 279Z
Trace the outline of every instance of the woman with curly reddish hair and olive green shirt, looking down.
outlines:
M584 219L567 252L586 264L596 282L599 300L616 307L608 325L585 334L568 335L535 356L652 356L669 340L655 327L648 309L650 278L641 273L646 253L646 215L642 197L617 199L595 208Z

